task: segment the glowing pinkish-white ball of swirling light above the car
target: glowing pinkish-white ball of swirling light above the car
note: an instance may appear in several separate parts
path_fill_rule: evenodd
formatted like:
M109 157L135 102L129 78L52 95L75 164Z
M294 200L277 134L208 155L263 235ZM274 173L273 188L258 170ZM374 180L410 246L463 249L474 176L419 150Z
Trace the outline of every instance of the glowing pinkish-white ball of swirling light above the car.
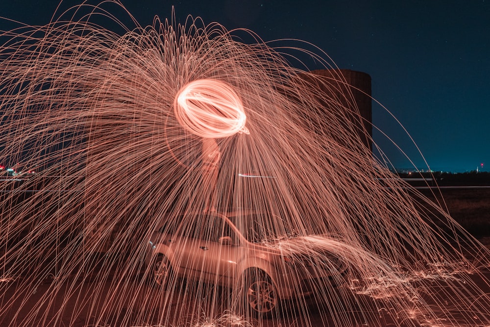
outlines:
M240 97L220 80L198 79L184 85L175 96L175 116L186 130L204 138L247 133Z

